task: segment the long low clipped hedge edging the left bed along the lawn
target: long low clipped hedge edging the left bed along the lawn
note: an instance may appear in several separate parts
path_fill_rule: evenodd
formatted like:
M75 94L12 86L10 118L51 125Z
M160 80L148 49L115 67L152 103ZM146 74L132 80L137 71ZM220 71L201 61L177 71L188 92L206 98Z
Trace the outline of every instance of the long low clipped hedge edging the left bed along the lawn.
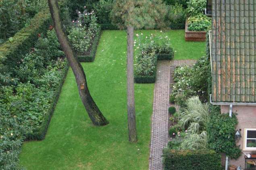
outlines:
M44 137L46 135L46 132L48 130L48 126L49 126L50 120L52 118L52 114L54 112L55 106L58 102L58 98L60 96L61 88L62 88L62 85L65 81L66 76L67 76L68 70L69 70L69 64L67 63L65 68L62 70L62 81L60 82L58 88L55 91L56 94L54 95L54 98L52 98L50 108L48 109L46 115L44 115L44 120L42 122L41 127L36 129L35 132L26 134L25 135L26 140L43 140L44 139Z

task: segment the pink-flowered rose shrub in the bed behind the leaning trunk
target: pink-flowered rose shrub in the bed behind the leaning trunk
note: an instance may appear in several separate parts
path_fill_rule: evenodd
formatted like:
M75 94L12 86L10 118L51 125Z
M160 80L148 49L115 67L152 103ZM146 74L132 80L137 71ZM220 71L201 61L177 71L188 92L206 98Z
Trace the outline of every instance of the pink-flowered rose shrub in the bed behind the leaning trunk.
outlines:
M73 26L69 30L68 39L77 53L89 52L96 33L99 30L95 12L78 13L78 19L73 20Z

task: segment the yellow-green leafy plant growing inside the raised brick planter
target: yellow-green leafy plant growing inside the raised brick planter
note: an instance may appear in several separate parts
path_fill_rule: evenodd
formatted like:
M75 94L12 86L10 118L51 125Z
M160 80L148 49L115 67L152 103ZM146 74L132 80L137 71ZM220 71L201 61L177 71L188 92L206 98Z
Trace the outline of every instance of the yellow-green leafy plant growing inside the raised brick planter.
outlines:
M190 16L187 19L189 31L207 31L212 25L211 19L204 14Z

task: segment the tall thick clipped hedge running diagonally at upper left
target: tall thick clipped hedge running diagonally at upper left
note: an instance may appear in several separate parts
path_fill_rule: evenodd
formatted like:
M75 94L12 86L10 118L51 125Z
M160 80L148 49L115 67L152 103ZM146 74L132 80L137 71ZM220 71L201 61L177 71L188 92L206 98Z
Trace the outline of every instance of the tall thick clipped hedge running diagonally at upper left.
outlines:
M50 12L47 9L37 13L30 22L30 25L22 28L12 39L0 46L0 71L15 69L21 61L22 55L28 53L35 45L38 34L46 32L51 23Z

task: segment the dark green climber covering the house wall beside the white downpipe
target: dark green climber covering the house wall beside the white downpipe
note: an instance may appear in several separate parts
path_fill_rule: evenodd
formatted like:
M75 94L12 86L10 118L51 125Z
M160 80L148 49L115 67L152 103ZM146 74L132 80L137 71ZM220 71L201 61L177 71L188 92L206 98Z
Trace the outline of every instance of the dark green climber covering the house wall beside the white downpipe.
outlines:
M207 124L209 148L218 153L225 153L232 159L241 155L239 146L235 143L235 127L238 124L235 113L232 117L221 114L218 108L211 111L210 122Z

